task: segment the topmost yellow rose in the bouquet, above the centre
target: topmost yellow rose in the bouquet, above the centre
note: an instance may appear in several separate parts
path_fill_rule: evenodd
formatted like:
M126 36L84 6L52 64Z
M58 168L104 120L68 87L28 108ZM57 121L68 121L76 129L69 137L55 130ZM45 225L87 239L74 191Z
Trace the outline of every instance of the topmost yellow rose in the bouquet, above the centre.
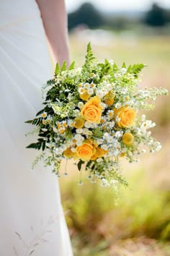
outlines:
M100 99L97 96L94 96L81 108L81 116L84 117L86 121L91 123L99 124L102 116L102 107L99 106L101 103Z

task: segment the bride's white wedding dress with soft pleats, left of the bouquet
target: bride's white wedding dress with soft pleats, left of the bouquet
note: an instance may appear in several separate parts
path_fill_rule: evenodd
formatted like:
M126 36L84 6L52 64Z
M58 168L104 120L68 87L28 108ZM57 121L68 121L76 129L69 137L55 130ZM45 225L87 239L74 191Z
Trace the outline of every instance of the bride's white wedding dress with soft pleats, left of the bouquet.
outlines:
M35 0L0 0L0 255L71 256L58 179L26 149L53 75Z

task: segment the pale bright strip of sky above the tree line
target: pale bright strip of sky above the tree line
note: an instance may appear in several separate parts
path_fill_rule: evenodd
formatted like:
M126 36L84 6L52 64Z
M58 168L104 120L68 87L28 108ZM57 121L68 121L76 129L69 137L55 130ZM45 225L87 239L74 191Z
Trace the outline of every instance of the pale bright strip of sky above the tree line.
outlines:
M65 1L66 9L68 12L72 12L88 0ZM170 9L170 0L89 0L89 2L103 11L146 11L150 9L153 2L156 2L161 7Z

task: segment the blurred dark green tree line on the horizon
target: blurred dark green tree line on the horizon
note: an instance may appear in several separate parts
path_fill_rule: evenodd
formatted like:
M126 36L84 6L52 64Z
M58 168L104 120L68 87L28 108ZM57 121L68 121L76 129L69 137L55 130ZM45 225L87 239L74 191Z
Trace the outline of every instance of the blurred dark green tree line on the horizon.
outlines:
M79 9L68 14L68 29L71 30L77 25L84 24L91 29L107 27L121 30L125 29L130 22L136 23L137 21L151 27L164 27L170 22L170 10L153 4L151 9L140 17L138 15L130 17L130 15L99 12L93 4L86 2Z

